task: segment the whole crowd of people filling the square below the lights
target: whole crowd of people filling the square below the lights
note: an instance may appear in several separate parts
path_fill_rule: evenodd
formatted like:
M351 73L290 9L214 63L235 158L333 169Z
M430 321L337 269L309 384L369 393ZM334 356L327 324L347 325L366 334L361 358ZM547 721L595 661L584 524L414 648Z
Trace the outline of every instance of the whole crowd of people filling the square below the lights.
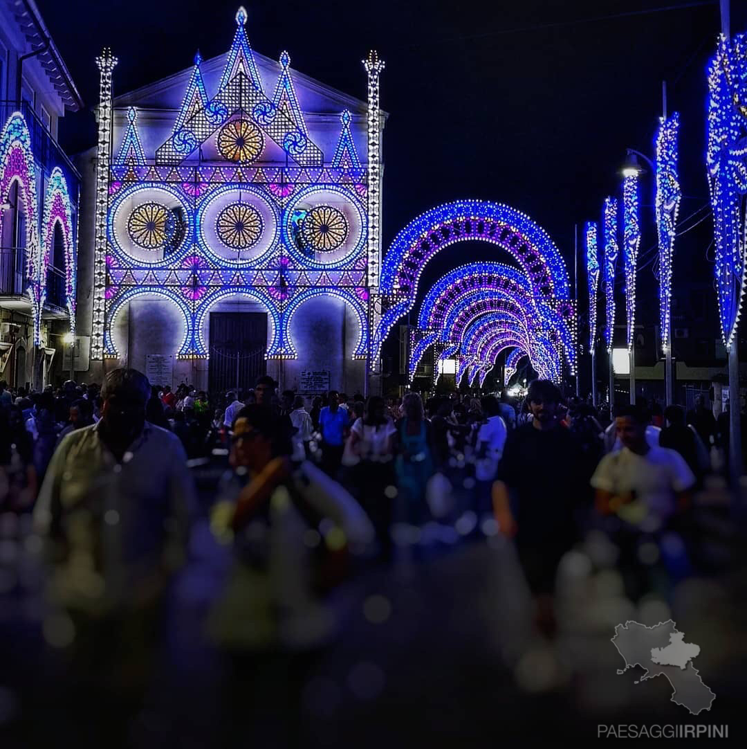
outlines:
M298 691L257 690L256 674L290 658L287 673L302 680L340 626L335 591L362 568L405 553L427 563L446 530L464 543L504 536L534 624L552 638L558 566L590 529L620 549L633 601L689 574L692 497L723 466L702 402L660 417L655 404L625 405L610 420L547 380L520 402L506 392L308 399L265 375L222 401L133 369L57 392L0 382L0 512L33 518L49 599L74 633L73 673L107 719L136 709L200 513L232 549L206 622L233 658L231 700L255 736L269 741L283 724L293 742ZM193 474L206 467L219 480L198 491ZM641 554L652 544L658 554Z

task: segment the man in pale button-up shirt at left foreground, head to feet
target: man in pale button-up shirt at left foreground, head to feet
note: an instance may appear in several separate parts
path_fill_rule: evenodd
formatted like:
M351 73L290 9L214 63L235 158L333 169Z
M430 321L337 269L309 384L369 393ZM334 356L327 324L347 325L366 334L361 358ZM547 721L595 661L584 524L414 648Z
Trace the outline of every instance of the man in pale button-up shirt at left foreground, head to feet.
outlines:
M70 621L71 708L89 739L127 743L159 634L162 595L186 554L194 488L180 441L145 420L147 378L115 369L102 417L62 440L34 521L49 542L52 604Z

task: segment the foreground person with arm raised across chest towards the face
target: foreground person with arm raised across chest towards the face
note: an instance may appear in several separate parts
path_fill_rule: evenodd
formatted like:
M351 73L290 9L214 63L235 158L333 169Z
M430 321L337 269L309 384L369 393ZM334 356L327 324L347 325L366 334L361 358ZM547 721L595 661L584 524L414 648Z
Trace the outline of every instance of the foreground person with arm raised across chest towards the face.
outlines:
M371 542L373 530L340 485L290 461L287 431L266 407L241 410L231 439L234 478L213 528L233 539L235 561L208 624L231 655L225 739L295 746L303 685L338 631L328 594L350 546Z

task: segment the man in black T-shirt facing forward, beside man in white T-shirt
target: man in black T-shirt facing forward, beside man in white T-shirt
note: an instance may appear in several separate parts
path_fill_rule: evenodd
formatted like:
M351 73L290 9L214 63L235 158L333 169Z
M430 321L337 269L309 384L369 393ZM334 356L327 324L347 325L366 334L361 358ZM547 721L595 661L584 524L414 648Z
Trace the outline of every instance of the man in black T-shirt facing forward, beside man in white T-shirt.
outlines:
M561 425L561 399L549 380L530 384L526 402L531 422L508 434L493 485L498 526L516 542L537 601L537 625L547 635L555 630L555 577L561 557L577 540L579 497L585 485L581 450Z

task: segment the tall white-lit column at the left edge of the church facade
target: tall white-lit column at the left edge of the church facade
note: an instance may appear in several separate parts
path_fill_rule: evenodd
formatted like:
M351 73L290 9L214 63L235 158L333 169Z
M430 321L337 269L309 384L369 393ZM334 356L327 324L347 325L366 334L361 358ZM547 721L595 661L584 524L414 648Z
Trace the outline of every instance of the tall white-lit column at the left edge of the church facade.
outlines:
M104 356L106 313L106 212L109 207L109 163L112 156L112 70L118 59L105 47L96 64L99 83L99 139L96 161L96 235L94 238L94 320L91 327L91 359Z

